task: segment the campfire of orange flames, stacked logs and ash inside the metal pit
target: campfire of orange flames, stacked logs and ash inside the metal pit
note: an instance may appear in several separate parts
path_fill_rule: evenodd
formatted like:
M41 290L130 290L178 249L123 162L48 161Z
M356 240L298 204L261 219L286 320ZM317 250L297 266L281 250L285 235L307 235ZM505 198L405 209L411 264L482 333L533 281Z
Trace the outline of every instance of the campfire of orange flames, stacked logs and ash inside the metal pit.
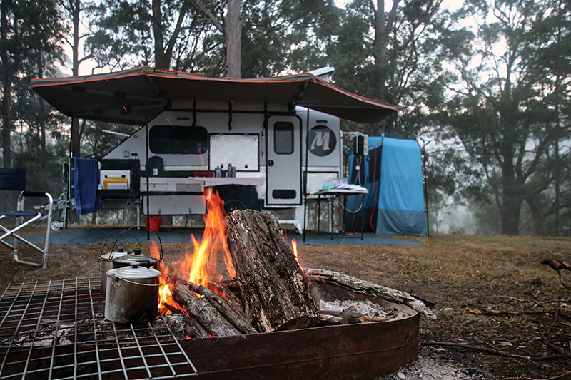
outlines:
M408 294L335 272L304 271L295 240L292 245L285 242L276 218L253 210L226 215L217 192L208 192L206 200L202 241L192 236L193 252L179 262L164 263L159 279L166 284L159 290L158 310L163 316L185 315L188 338L383 322L404 316L367 299L325 302L317 286L323 283L362 294L376 289L371 295L382 294L433 317ZM157 257L156 245L152 251Z

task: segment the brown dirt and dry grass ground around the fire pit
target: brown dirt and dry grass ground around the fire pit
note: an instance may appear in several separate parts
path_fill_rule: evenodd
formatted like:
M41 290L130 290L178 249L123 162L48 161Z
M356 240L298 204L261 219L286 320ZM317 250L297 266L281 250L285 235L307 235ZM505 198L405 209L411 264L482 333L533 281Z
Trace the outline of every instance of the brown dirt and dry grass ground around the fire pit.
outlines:
M571 379L571 291L540 263L571 262L571 238L400 238L423 245L299 247L303 267L409 292L437 314L435 321L420 320L417 363L383 379ZM5 289L9 283L98 277L103 245L51 245L46 270L16 264L8 249L1 250ZM190 243L163 244L167 264L191 251ZM28 250L21 255L31 257Z

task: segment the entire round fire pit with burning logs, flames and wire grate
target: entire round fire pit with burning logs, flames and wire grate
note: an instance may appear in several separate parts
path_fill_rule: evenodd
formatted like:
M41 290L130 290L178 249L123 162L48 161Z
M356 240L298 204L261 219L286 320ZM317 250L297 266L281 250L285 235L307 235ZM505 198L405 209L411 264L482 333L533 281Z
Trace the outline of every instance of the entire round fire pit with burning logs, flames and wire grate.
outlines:
M193 238L193 253L170 269L162 262L161 277L175 280L159 282L160 297L138 300L158 303L155 319L154 311L110 318L133 323L105 319L109 288L121 286L109 279L107 299L97 278L10 284L0 298L0 378L374 379L415 360L418 312L432 314L422 302L345 274L304 270L275 217L236 210L225 222L223 202L209 199L203 241ZM162 258L157 251L152 245L151 255ZM350 300L388 312L318 306Z

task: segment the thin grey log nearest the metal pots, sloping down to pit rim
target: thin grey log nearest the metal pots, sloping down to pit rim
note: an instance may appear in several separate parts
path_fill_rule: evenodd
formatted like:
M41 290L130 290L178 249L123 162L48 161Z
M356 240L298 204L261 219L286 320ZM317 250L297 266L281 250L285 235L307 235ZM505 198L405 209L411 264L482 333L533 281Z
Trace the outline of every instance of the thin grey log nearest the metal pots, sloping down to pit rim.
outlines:
M172 295L173 299L185 308L190 317L201 322L210 335L228 337L241 334L208 302L206 297L198 297L183 282L176 282Z

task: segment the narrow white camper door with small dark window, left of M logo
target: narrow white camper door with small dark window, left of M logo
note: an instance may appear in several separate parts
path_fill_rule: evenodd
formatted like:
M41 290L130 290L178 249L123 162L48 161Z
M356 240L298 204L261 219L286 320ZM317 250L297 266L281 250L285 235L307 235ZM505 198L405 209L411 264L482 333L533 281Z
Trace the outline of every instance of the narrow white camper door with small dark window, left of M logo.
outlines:
M266 205L301 205L300 119L270 116L266 141Z

